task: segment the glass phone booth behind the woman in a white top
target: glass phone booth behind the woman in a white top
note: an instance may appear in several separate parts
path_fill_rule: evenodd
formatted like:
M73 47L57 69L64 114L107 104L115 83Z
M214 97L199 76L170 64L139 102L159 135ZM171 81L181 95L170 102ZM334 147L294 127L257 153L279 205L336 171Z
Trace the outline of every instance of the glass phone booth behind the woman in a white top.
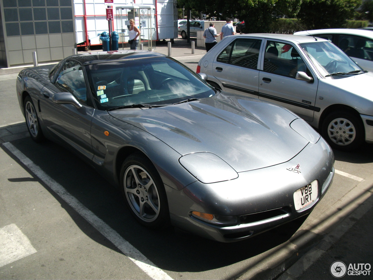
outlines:
M135 25L140 29L140 44L143 44L144 50L154 51L156 49L156 17L154 14L155 6L131 4L127 6L116 7L116 31L119 35L119 43L126 43L129 40L128 31L131 25L130 19L135 20ZM122 45L124 49L124 44Z

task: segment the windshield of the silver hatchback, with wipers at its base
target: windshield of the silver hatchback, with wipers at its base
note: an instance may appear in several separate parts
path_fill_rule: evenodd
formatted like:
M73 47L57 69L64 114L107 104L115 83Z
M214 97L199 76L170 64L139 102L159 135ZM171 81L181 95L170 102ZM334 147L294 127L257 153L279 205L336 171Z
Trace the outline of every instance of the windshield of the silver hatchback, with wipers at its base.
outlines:
M324 77L328 77L330 74L335 75L349 72L356 74L360 72L357 70L361 70L350 57L331 42L303 43L300 46L312 61L319 74Z

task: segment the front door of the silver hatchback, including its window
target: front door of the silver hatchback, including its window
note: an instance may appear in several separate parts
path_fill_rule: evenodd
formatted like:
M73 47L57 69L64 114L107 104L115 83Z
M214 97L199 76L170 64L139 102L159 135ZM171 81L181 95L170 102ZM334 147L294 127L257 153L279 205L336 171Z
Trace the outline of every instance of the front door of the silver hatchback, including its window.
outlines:
M316 75L295 44L266 40L259 72L259 99L284 106L307 122L313 121L317 93ZM298 71L313 78L306 82L295 78Z

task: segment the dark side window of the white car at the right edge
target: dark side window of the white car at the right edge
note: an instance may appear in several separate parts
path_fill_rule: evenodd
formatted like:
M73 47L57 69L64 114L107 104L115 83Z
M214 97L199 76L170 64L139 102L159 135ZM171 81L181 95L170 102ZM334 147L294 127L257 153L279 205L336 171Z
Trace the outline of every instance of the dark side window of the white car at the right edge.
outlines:
M338 46L348 56L373 60L373 40L362 37L341 35L339 36Z

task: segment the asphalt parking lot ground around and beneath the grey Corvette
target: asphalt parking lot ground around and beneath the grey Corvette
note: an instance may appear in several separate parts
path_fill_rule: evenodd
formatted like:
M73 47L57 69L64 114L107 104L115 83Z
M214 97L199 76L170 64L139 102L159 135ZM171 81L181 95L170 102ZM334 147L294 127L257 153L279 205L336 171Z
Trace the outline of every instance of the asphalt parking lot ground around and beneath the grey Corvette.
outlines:
M195 71L204 53L176 41L171 55ZM0 279L334 279L334 261L373 264L372 144L335 151L333 185L304 219L237 243L148 230L89 165L29 138L19 71L0 70Z

